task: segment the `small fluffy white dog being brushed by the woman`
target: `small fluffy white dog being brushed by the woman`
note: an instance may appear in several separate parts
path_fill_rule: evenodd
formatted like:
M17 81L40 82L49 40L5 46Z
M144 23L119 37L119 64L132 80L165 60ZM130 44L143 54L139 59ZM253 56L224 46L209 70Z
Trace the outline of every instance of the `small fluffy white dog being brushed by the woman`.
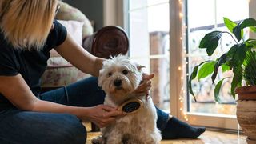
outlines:
M156 144L161 141L162 136L156 126L157 113L152 99L146 98L146 95L135 96L132 93L142 81L141 69L142 66L122 55L103 62L98 85L106 92L104 104L118 107L123 102L138 98L142 106L137 112L118 118L114 124L102 128L101 143Z

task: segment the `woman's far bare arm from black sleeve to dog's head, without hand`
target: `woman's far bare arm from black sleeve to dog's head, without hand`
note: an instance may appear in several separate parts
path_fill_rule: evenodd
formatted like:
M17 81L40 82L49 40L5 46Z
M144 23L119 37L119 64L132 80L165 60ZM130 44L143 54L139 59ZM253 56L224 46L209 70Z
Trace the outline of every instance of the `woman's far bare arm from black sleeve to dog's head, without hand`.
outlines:
M104 59L94 57L94 55L84 50L82 46L74 42L70 34L67 33L66 40L55 50L82 72L98 77Z

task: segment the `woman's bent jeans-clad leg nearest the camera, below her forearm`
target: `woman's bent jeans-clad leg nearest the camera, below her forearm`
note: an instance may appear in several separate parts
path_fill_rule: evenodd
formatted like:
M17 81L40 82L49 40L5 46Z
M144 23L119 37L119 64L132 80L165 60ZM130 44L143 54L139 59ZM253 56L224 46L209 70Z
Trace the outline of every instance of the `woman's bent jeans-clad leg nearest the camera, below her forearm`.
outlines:
M73 115L4 110L0 143L85 143L86 128Z

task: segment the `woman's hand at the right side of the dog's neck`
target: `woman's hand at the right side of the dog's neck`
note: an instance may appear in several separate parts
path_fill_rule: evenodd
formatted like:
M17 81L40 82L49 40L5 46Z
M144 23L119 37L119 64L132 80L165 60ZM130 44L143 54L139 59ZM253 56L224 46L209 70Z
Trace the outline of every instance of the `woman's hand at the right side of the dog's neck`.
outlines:
M137 96L146 95L147 97L150 94L152 78L154 78L154 74L142 74L142 82L137 89L134 90L134 94Z

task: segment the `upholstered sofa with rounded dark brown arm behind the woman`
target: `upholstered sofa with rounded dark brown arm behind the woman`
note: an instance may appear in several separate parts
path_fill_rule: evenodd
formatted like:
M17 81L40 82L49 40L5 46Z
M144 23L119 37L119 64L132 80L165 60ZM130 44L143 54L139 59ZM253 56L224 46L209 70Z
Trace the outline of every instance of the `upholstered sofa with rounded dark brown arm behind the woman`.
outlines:
M90 54L110 58L110 56L127 53L129 39L121 27L105 26L94 32L94 22L80 10L66 2L59 2L59 6L56 19L66 26L71 37ZM66 62L54 49L50 51L50 59L47 63L46 72L42 75L42 92L67 86L90 76Z

